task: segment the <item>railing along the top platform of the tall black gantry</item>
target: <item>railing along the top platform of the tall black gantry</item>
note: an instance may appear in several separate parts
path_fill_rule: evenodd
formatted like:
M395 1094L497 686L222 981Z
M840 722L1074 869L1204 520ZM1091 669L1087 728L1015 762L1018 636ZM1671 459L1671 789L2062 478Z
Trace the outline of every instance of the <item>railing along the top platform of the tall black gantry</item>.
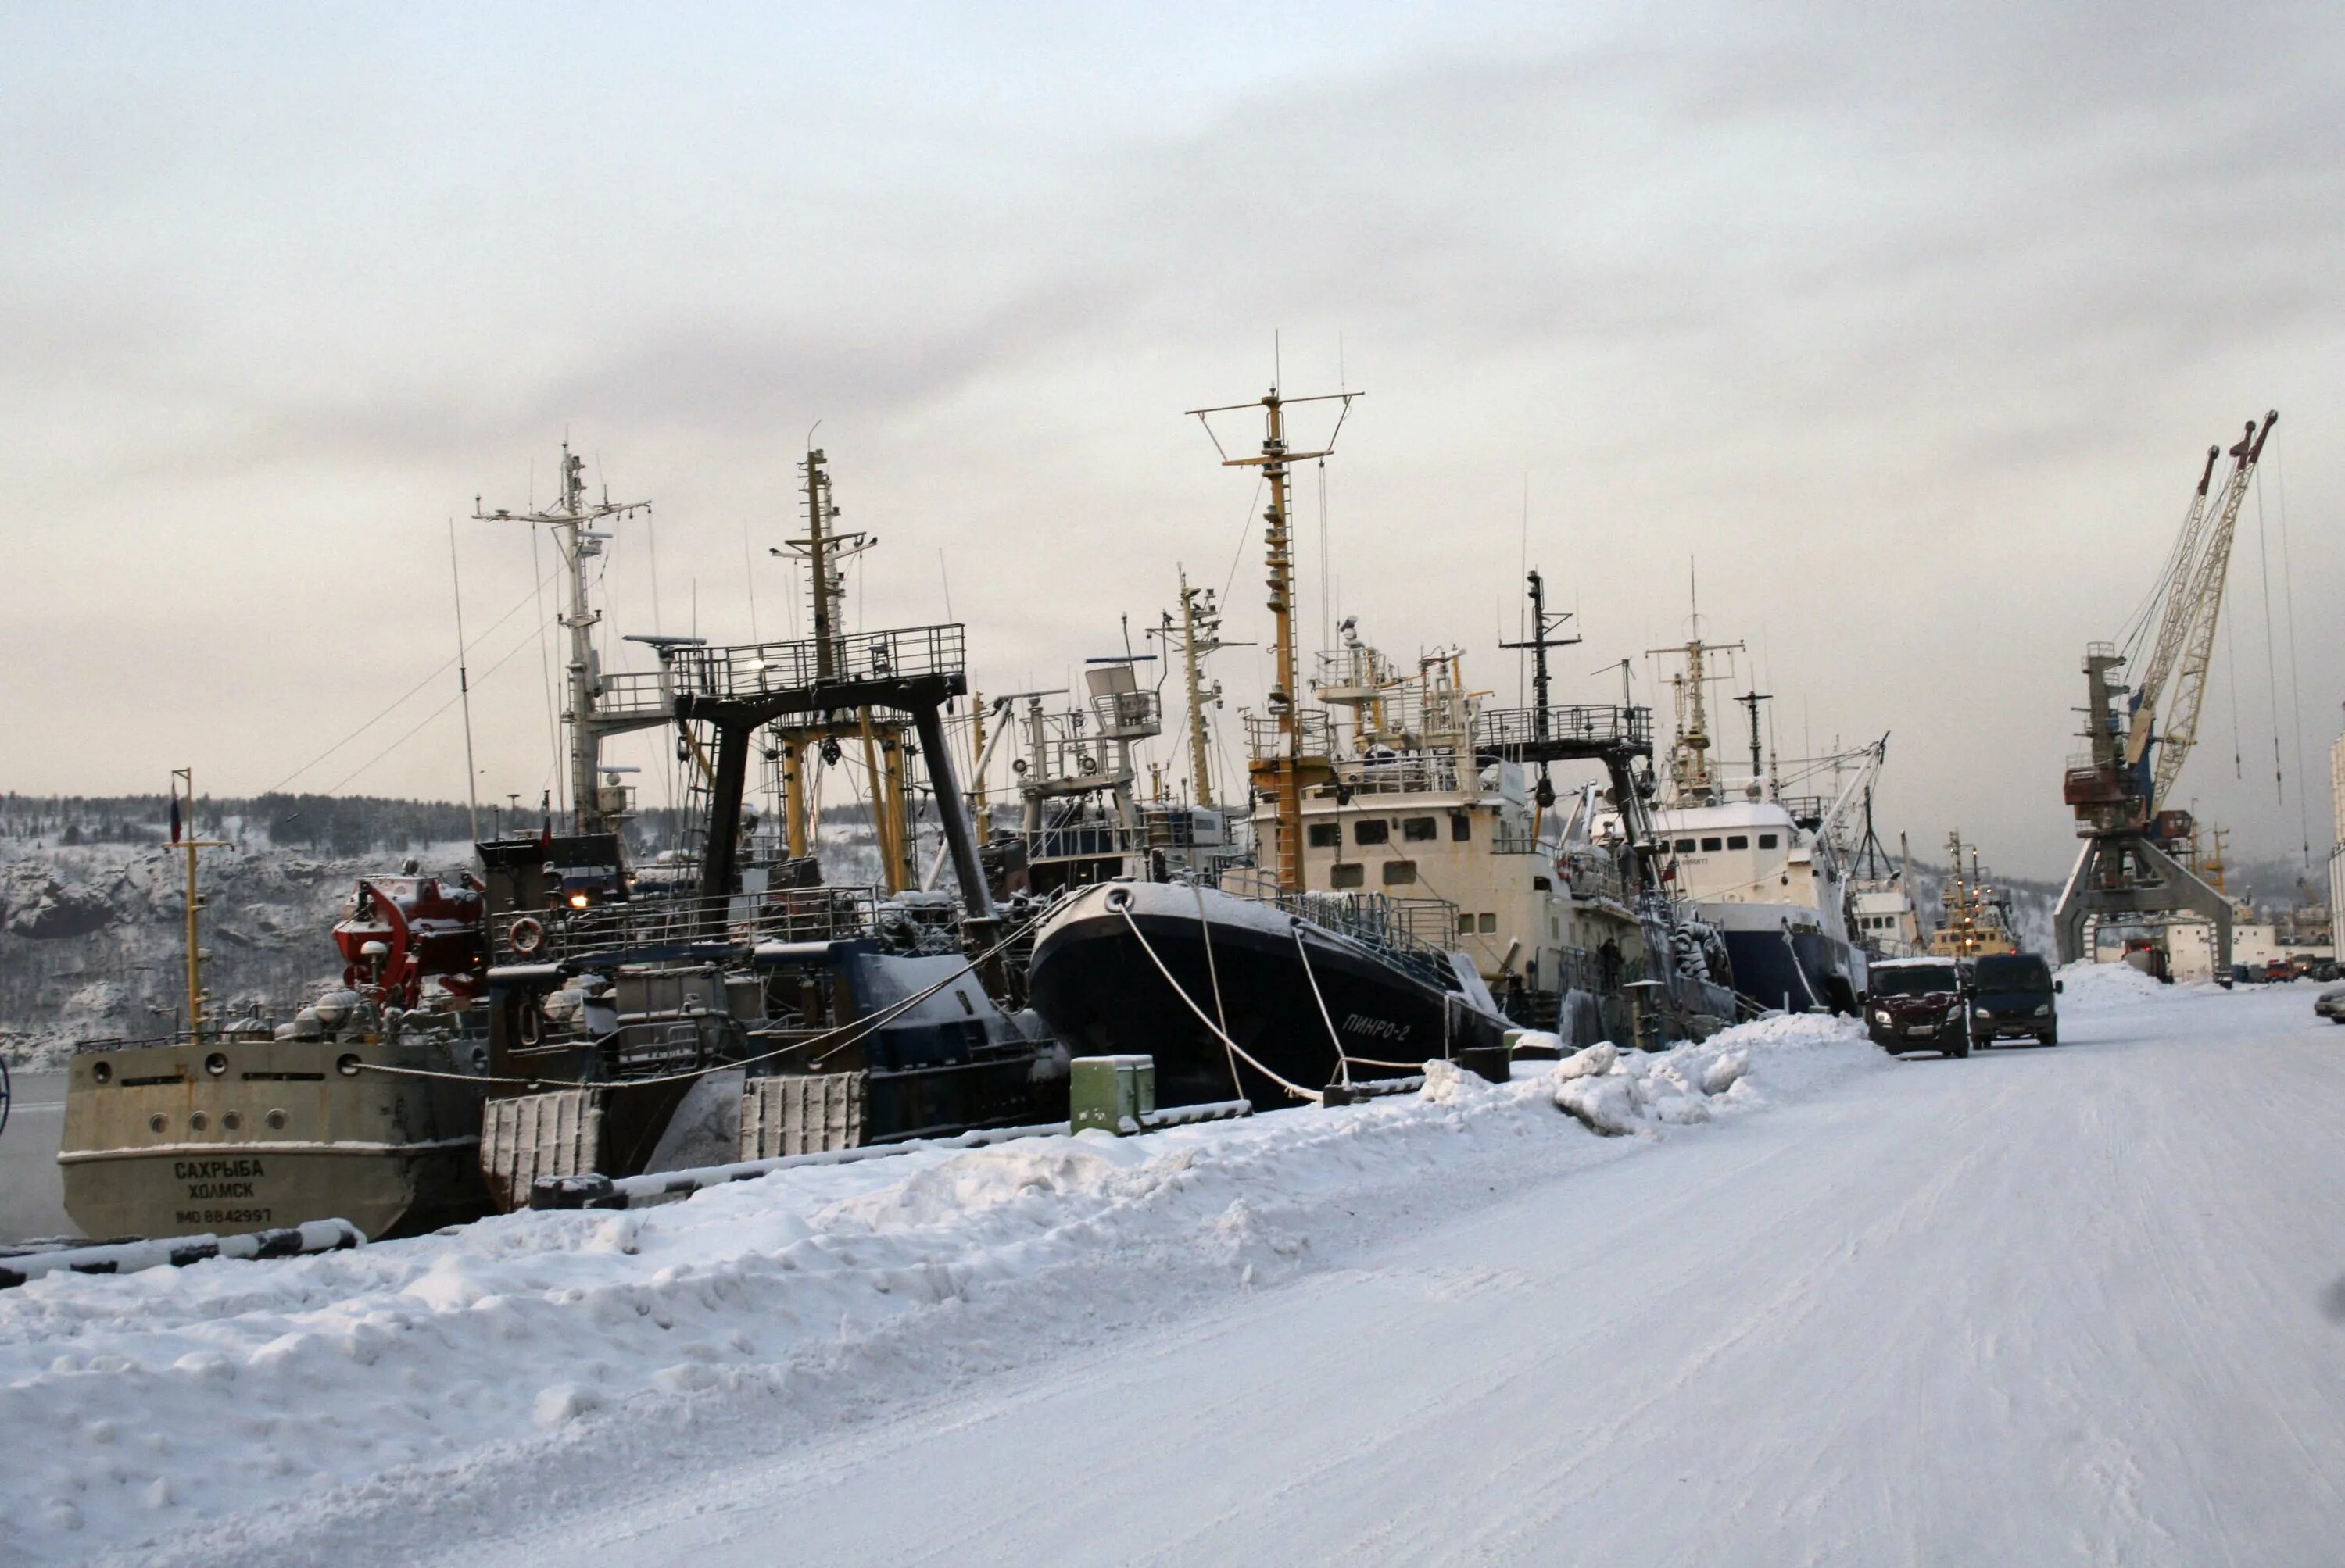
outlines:
M957 621L793 642L678 645L661 649L657 673L603 675L596 713L638 717L668 713L680 696L746 701L769 691L961 675L966 666L966 633Z

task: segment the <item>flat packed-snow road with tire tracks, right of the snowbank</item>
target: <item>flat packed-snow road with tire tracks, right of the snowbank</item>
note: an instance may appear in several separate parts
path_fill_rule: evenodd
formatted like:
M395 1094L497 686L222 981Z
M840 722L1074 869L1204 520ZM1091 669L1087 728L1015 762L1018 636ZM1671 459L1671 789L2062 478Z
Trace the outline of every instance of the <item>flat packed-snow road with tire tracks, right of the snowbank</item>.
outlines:
M488 1561L2338 1561L2345 1031L2289 987L2066 1038L671 1460Z

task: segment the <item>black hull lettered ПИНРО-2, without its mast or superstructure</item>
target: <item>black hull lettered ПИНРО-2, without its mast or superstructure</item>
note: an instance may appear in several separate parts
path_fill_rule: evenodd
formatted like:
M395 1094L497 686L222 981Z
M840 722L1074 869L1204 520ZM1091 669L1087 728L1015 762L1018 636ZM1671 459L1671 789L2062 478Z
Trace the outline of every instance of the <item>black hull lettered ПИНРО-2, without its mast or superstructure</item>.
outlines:
M1128 900L1130 921L1109 902L1116 895ZM1032 1001L1074 1055L1154 1057L1163 1106L1233 1097L1259 1111L1292 1106L1297 1097L1278 1078L1309 1090L1341 1078L1334 1038L1353 1080L1398 1078L1428 1059L1503 1045L1503 1020L1461 994L1309 921L1301 942L1309 970L1292 916L1266 905L1163 884L1095 888L1036 938ZM1231 1052L1198 1010L1217 1017L1255 1064Z

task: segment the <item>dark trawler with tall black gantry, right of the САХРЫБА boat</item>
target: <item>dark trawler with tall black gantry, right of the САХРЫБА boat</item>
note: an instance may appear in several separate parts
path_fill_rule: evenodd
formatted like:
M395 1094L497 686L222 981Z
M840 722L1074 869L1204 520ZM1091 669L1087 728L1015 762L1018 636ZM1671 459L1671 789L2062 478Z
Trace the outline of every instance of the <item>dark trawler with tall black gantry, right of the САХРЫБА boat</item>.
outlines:
M528 848L488 853L481 1165L497 1207L528 1205L546 1179L1065 1116L1065 1050L1004 1005L1015 933L947 738L945 713L968 696L964 628L847 630L842 563L870 537L837 527L818 448L800 476L807 530L788 551L807 565L814 635L638 638L657 670L631 673L603 673L591 647L572 656L572 827L607 844L589 858L619 867L610 895L560 895L570 881ZM593 511L572 485L530 520L570 537L577 560ZM591 623L582 572L570 593L577 633ZM983 724L983 708L971 717ZM628 729L673 729L687 766L689 844L657 877L624 865L624 785L593 752ZM748 804L760 757L779 832ZM823 877L821 797L849 759L863 764L877 884ZM915 762L959 898L924 886L933 867L917 877Z

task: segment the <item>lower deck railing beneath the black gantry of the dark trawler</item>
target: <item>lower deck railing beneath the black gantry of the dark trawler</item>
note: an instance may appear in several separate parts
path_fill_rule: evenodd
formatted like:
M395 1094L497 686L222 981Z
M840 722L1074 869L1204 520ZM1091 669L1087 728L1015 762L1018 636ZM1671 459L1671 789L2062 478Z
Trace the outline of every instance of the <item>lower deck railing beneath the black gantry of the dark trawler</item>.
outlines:
M650 952L689 945L840 942L877 928L877 888L767 888L764 893L631 898L537 916L539 933L518 919L490 921L499 963L560 963L570 959Z

